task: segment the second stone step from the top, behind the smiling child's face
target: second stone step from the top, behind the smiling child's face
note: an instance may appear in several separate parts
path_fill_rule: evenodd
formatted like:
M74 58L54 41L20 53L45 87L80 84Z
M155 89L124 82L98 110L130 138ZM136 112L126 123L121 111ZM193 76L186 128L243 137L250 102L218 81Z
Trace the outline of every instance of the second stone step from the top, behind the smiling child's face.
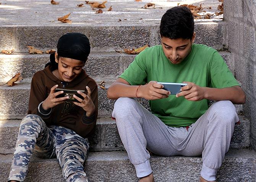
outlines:
M220 51L230 70L234 73L232 54ZM92 52L84 66L86 73L91 77L119 76L134 60L135 55L116 52ZM34 73L44 69L49 62L49 54L0 54L0 82L7 82L16 73L21 73L24 79L30 80Z

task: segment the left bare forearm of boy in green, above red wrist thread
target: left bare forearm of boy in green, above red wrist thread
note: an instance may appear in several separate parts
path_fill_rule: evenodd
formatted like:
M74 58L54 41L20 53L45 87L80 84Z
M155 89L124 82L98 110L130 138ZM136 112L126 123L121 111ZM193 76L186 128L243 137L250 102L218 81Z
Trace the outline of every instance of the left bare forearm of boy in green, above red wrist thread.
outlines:
M125 83L113 83L108 91L109 99L118 99L119 97L136 97L138 85L127 85Z

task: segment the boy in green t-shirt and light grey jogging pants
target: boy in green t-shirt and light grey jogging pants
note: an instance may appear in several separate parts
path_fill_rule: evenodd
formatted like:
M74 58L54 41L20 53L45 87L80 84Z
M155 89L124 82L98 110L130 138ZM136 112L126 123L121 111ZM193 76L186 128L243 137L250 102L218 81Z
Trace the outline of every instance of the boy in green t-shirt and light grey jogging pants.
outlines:
M183 6L161 19L162 43L145 49L107 92L117 99L112 116L140 182L152 182L150 150L162 156L202 155L200 181L215 181L245 93L219 53L194 44L194 19ZM185 82L170 95L157 82ZM151 112L133 97L149 100ZM208 108L209 100L215 102ZM232 104L233 103L233 104Z

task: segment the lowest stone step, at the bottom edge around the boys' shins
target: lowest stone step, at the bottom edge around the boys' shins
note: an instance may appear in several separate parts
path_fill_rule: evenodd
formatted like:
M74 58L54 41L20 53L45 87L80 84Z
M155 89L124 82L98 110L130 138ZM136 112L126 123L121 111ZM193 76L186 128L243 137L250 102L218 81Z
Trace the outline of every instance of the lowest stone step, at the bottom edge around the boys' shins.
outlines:
M0 155L0 181L9 175L13 155ZM217 173L217 181L255 181L256 153L249 149L231 149ZM151 156L151 166L157 182L198 182L201 157ZM91 152L84 164L90 182L138 181L134 166L126 152ZM54 169L54 170L53 170ZM64 182L56 159L32 157L26 182Z

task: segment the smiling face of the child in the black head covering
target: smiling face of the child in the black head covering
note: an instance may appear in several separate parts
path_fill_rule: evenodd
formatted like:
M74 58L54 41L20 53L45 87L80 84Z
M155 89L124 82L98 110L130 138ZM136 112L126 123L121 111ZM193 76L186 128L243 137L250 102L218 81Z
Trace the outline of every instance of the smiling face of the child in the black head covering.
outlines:
M70 82L74 80L83 70L84 62L67 57L58 57L55 53L55 62L58 69L53 71L53 75L62 81Z

